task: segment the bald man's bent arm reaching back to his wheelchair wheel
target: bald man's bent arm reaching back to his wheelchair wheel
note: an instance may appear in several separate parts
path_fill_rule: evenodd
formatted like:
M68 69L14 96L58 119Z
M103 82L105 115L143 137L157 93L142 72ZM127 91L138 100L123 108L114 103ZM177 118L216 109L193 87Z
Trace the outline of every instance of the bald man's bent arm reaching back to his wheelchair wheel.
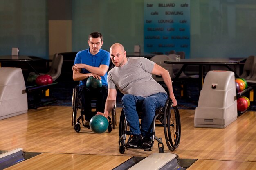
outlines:
M173 101L173 106L177 105L177 100L175 99L175 96L173 94L173 85L171 81L171 76L168 72L168 70L164 69L160 65L157 65L155 63L154 68L151 72L152 74L155 74L157 76L161 76L164 80L164 83L166 84L168 91L169 91L169 97Z

